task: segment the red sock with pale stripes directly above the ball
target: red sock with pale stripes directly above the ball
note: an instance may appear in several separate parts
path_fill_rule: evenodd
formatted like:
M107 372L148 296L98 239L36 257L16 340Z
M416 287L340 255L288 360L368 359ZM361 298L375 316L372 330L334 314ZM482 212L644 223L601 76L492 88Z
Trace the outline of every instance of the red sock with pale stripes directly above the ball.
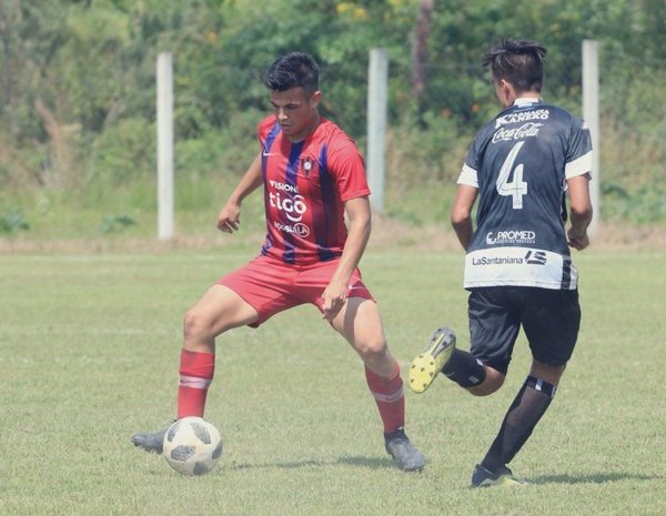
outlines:
M178 418L203 417L205 396L215 372L215 355L181 351L178 384Z

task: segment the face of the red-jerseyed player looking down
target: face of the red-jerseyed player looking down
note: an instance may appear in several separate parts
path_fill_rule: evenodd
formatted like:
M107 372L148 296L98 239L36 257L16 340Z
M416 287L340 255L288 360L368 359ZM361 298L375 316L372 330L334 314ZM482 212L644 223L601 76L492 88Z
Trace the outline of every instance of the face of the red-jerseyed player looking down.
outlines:
M309 93L303 88L271 91L271 105L284 135L292 142L305 140L319 123L317 105L321 92Z

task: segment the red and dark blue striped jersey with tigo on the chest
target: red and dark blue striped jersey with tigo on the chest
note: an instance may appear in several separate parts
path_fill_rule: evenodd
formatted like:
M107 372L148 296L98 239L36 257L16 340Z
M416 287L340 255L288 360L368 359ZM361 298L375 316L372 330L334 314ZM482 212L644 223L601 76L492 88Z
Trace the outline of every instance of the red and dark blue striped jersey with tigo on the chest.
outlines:
M354 141L325 118L304 141L290 142L274 115L259 124L266 239L261 253L292 264L342 254L344 202L370 194Z

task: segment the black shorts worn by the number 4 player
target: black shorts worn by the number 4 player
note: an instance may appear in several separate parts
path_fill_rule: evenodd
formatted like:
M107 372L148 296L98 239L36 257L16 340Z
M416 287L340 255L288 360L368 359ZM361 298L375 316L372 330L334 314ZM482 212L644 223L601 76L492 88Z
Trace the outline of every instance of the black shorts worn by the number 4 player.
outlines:
M578 291L532 286L472 289L468 300L472 354L506 374L521 325L532 356L554 367L572 357L578 328Z

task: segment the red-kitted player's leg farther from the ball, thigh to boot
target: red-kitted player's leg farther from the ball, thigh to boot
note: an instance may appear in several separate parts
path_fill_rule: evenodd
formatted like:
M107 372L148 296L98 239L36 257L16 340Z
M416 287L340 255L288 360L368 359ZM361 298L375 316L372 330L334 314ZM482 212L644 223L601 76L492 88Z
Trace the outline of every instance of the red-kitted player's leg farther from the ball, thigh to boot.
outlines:
M401 469L422 469L425 457L404 431L405 396L400 364L389 351L376 303L370 299L350 297L332 325L363 360L367 386L384 425L386 452Z

